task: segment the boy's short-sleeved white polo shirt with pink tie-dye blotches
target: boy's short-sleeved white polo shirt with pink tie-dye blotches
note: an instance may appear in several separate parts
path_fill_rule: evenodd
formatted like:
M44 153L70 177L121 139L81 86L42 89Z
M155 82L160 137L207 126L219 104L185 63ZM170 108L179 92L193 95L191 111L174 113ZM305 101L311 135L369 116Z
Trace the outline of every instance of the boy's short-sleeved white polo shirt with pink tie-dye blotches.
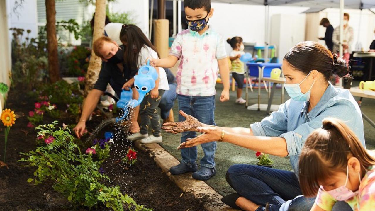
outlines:
M177 94L202 97L216 94L217 60L227 55L222 36L211 26L202 35L190 29L178 33L169 55L180 59Z

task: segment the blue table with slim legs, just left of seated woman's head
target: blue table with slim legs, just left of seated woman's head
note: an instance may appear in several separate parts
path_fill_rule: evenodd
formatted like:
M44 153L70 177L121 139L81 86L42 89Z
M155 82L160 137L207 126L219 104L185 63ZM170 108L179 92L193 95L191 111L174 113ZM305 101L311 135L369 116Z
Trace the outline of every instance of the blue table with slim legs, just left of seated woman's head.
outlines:
M261 90L261 80L263 77L271 77L271 71L274 68L280 68L281 63L247 63L248 67L247 78L246 78L246 108L248 106L248 81L249 76L258 78L258 111L260 111L260 90Z

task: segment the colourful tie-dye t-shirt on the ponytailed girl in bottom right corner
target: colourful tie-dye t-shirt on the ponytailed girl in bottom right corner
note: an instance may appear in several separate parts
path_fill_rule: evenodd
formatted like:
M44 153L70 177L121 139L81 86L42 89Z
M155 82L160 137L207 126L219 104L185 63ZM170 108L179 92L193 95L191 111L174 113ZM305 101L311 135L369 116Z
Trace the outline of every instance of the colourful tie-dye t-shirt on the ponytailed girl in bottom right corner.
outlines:
M374 211L375 210L375 166L366 173L362 178L358 189L358 195L347 200L346 202L354 211ZM332 210L335 205L334 199L329 193L322 188L319 189L315 204L326 211Z

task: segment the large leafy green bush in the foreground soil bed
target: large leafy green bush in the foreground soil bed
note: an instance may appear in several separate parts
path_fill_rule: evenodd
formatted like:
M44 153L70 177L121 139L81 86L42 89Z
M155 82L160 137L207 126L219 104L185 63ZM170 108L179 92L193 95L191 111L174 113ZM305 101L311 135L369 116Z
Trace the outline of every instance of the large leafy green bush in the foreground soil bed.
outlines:
M36 127L38 136L48 134L53 139L50 138L48 143L37 147L35 151L21 153L26 158L21 158L19 162L37 167L34 178L27 182L40 184L50 180L53 189L66 196L68 201L89 208L98 208L98 205L104 204L114 211L122 211L125 205L129 210L151 211L121 193L118 186L105 186L102 181L108 181L109 178L98 172L99 163L93 161L92 155L81 153L69 129L57 129L56 125L57 121L54 121Z

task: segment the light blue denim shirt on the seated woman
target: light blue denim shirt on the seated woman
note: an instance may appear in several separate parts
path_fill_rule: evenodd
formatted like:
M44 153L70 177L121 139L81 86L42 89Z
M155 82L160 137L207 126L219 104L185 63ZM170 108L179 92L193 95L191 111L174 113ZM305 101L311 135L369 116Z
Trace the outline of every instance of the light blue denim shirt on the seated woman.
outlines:
M287 142L290 163L298 178L299 154L309 134L322 127L326 117L335 117L350 127L365 146L361 110L349 90L329 84L318 104L308 112L309 102L287 100L261 122L251 124L254 136L277 136Z

